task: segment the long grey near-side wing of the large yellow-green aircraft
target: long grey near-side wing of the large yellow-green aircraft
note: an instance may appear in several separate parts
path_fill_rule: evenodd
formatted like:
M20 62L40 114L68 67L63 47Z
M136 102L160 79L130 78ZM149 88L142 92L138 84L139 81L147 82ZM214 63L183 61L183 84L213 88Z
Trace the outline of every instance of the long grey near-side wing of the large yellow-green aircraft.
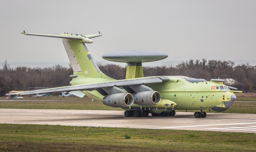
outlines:
M91 84L81 84L81 85L73 85L66 87L58 87L58 88L49 88L49 89L41 89L34 91L24 91L18 93L7 93L11 97L17 95L30 95L36 93L56 93L56 92L71 92L71 91L93 91L97 88L105 88L105 87L123 87L128 85L140 85L140 84L154 84L154 83L162 83L167 82L170 79L164 76L153 77L153 78L135 78L135 79L125 79L125 80L112 80L108 82L100 82L100 83L91 83Z

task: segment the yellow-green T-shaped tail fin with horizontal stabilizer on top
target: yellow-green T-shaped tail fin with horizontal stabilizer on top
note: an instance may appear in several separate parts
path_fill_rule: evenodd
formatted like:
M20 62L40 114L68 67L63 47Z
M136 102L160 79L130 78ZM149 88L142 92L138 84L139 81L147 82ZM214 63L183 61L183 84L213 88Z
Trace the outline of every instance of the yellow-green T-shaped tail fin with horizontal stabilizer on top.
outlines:
M105 76L99 70L97 64L95 63L92 55L87 49L84 43L92 43L93 41L90 38L95 38L101 36L99 34L60 34L60 35L52 35L52 34L31 34L31 33L22 33L25 35L32 36L46 36L46 37L54 37L54 38L62 38L62 42L64 44L65 50L69 57L69 61L72 65L74 75L84 75L84 77L90 78L101 78L104 75L104 78L109 78ZM110 78L111 79L111 78Z

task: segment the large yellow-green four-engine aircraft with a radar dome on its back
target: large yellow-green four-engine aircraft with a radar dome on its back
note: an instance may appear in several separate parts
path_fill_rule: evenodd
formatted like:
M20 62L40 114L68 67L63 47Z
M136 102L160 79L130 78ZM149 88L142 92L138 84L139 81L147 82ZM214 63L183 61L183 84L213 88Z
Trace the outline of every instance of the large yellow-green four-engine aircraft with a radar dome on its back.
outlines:
M143 76L142 63L168 57L155 51L119 51L103 55L104 59L127 63L126 79L114 80L98 68L86 43L99 34L30 34L62 38L73 68L71 86L9 93L8 99L22 99L21 95L67 92L78 97L88 95L106 106L123 108L125 117L174 116L175 110L198 110L195 118L205 118L203 110L222 112L230 108L237 97L223 84L224 80L190 78L187 76ZM234 88L233 88L234 89Z

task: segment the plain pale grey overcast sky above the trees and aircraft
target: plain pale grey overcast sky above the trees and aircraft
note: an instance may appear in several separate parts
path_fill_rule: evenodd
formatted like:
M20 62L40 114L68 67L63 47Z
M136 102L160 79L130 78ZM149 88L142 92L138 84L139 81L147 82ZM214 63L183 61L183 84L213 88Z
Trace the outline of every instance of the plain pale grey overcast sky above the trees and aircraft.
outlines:
M0 61L69 61L60 38L93 34L96 61L105 53L141 49L189 59L256 59L255 0L1 0Z

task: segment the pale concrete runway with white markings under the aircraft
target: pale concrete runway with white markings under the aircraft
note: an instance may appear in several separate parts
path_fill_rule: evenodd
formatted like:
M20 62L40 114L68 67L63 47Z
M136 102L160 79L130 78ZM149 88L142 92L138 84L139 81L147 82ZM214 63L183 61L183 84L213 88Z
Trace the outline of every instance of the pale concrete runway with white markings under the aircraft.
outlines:
M207 113L207 118L194 118L192 112L176 112L174 117L126 118L123 113L114 110L0 109L0 123L256 133L256 114Z

